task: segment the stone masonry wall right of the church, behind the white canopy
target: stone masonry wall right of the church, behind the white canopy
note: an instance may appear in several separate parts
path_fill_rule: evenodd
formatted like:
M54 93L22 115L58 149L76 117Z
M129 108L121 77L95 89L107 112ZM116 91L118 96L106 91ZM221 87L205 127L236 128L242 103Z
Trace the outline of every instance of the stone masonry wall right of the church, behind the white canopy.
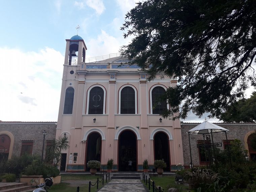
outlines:
M190 129L199 125L199 123L181 123L181 134L182 134L182 145L183 145L183 157L184 157L184 165L189 165L190 163L190 152L189 152L189 139L188 133ZM247 133L256 130L255 123L216 123L216 125L221 126L227 131L227 138L230 139L240 139L242 143L244 143L244 139ZM214 133L213 134L214 142L222 143L223 150L223 141L226 140L225 133ZM202 135L194 135L190 134L190 142L191 142L191 154L192 154L192 162L194 165L199 165L199 151L197 148L197 141L203 140ZM247 141L246 141L247 142Z

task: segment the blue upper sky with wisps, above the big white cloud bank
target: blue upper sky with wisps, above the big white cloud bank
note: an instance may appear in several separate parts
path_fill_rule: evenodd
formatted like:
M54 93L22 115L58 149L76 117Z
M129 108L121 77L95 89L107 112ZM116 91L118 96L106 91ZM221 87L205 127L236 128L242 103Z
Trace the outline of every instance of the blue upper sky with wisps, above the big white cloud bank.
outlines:
M77 25L86 44L102 31L123 38L119 28L126 11L134 5L133 0L2 1L0 45L26 52L51 47L64 54L65 39L76 34ZM97 56L94 54L90 53Z

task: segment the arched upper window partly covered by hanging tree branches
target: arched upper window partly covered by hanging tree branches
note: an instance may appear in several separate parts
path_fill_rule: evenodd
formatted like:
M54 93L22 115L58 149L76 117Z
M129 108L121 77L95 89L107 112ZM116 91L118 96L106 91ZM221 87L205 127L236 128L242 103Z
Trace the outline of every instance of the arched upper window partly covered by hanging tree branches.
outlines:
M153 88L151 92L152 96L152 113L153 114L161 114L164 110L167 109L166 101L159 101L159 97L165 93L165 89L163 87L157 86Z

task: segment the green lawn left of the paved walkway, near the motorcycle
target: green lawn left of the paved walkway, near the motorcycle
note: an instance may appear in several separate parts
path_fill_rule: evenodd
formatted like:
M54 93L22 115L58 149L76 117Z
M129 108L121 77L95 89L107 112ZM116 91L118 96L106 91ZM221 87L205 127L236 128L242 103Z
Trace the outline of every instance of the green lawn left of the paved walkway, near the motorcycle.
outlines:
M83 181L92 182L95 184L97 178L100 179L100 175L61 175L61 183L53 185L49 192L76 192L77 186L79 186L79 192L88 192L89 184L83 184ZM104 184L106 179L104 179ZM99 189L102 187L102 182L99 182ZM97 191L97 184L91 186L91 192Z

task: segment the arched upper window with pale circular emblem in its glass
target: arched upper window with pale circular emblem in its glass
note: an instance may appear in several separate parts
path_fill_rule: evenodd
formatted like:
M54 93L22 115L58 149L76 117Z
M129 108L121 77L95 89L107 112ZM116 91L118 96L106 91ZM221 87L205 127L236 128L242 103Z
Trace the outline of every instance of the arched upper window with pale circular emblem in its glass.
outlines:
M101 87L94 87L89 93L88 114L103 114L104 91Z

